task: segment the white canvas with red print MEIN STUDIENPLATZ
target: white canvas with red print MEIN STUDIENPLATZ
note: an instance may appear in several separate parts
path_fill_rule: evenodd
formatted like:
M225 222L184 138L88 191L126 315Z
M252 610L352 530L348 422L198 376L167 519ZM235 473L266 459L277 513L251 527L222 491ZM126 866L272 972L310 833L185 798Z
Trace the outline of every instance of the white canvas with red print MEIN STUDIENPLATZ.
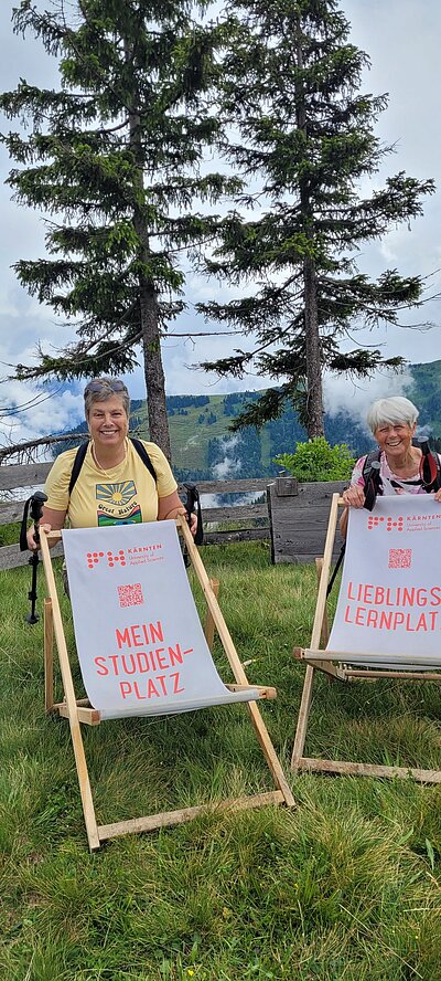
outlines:
M175 521L62 534L83 681L101 719L259 697L228 690L217 673Z

